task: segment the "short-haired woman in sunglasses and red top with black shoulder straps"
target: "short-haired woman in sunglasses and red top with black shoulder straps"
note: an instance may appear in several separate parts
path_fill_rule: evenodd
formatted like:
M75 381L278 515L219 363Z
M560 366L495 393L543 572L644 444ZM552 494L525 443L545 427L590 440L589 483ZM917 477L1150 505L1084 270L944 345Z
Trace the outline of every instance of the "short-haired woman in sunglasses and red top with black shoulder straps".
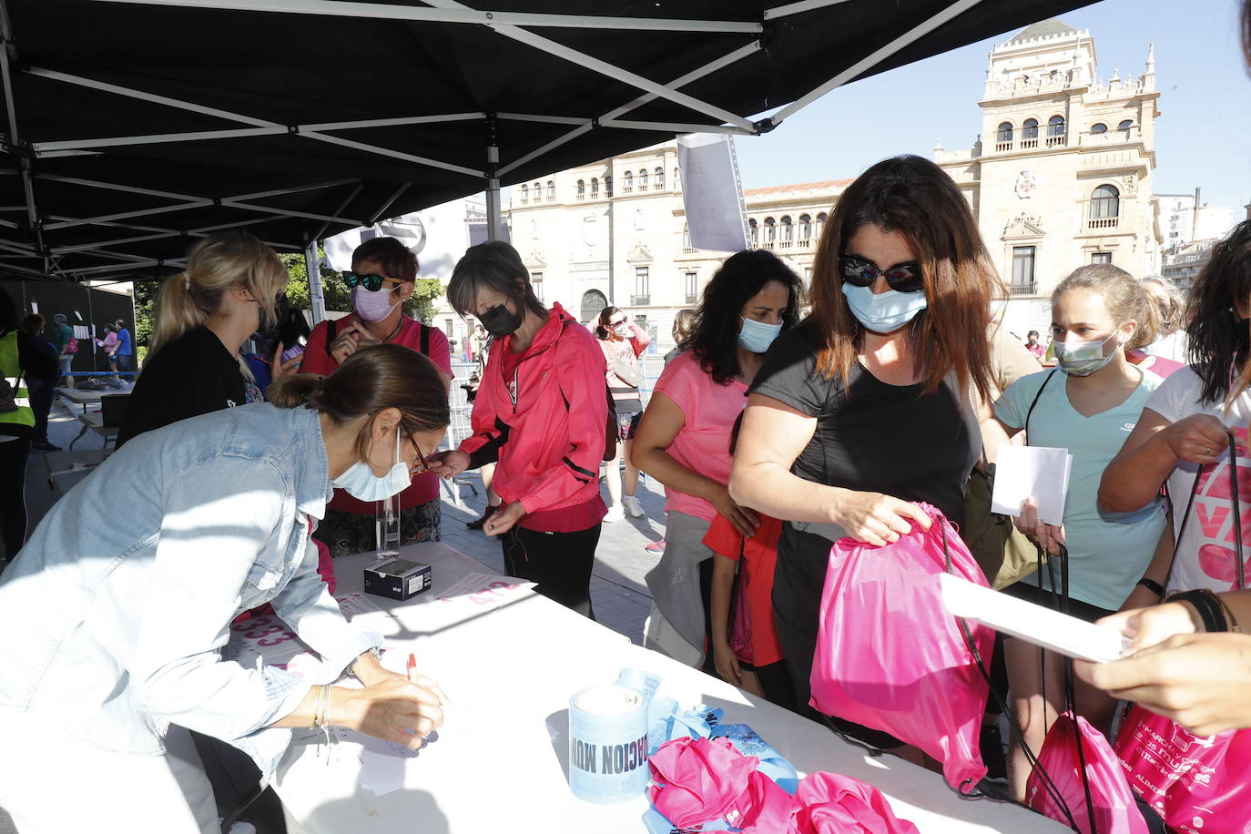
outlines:
M352 288L353 314L313 328L304 348L300 370L329 375L349 356L369 345L404 345L424 354L452 385L452 349L448 338L404 314L417 281L417 255L394 238L374 238L352 253L352 271L344 275ZM433 449L427 450L430 454ZM375 501L363 501L345 490L335 490L318 539L330 555L373 550L377 546ZM439 509L439 479L419 474L399 496L400 544L438 541L443 516Z

